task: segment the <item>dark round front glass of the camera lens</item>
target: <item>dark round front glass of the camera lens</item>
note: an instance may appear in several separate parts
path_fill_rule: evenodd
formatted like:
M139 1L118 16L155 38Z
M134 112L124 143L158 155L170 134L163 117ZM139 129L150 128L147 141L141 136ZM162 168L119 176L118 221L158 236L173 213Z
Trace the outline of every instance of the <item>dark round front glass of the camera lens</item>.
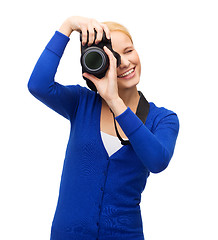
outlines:
M92 70L97 70L102 66L102 56L100 53L93 51L93 52L89 52L86 56L85 56L85 64L89 69Z

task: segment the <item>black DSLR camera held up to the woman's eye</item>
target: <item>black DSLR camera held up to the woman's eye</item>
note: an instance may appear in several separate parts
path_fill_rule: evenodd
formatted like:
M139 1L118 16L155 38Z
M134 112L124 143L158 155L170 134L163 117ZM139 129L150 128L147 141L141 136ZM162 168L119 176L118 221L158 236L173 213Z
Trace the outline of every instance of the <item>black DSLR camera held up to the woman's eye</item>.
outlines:
M97 32L95 31L95 39ZM103 47L106 46L114 54L114 57L117 59L117 67L120 66L121 57L120 55L112 49L111 40L106 38L105 32L103 32L103 37L101 42L98 44L93 43L91 46L88 46L89 38L87 36L87 43L82 45L82 33L80 33L81 41L81 58L80 62L82 65L82 73L87 72L93 74L97 78L103 78L109 67L109 58ZM97 92L97 89L92 81L83 77L86 80L88 87Z

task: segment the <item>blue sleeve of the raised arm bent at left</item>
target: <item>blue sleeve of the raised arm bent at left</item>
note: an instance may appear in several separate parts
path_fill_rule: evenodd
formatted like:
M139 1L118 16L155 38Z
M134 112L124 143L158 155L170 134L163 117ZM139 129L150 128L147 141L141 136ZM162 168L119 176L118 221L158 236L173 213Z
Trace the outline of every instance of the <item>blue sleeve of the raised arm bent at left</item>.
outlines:
M55 32L33 69L28 89L42 103L70 120L79 101L80 86L63 86L54 81L69 40L70 38L61 32Z

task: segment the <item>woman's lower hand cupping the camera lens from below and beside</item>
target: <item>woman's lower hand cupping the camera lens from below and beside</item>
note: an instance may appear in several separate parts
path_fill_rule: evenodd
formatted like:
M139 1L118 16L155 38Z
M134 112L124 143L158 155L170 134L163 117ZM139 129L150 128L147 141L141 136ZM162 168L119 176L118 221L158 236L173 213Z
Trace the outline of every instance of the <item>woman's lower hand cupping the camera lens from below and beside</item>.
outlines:
M117 60L106 46L104 46L104 51L109 58L109 68L105 76L101 79L89 73L83 73L83 76L95 84L101 97L108 103L108 105L110 105L111 102L119 99L117 85Z

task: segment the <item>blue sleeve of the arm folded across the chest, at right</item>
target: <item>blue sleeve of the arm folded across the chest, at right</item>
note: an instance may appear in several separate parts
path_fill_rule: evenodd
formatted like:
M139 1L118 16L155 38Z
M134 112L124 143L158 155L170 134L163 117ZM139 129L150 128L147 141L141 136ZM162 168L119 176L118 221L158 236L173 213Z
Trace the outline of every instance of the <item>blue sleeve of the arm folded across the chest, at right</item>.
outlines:
M150 172L158 173L168 166L179 132L179 120L175 113L169 111L165 114L153 133L129 107L115 119Z

